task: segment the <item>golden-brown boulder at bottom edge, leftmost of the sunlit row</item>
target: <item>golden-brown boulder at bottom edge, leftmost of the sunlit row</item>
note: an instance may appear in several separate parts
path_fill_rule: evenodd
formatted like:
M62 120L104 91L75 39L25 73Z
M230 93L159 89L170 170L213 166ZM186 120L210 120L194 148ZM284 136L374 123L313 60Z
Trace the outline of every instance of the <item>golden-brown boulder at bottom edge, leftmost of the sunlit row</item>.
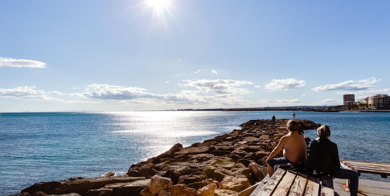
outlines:
M172 181L170 178L164 178L158 175L153 176L150 179L149 184L146 185L144 190L141 191L142 196L154 196L161 190L167 190L172 187Z

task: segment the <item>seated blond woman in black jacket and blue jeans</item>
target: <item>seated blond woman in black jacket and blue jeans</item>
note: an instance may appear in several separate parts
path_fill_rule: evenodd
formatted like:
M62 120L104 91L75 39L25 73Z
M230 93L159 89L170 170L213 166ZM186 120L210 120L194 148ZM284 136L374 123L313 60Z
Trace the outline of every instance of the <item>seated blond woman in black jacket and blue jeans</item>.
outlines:
M305 167L313 174L330 175L333 178L349 179L351 196L358 195L359 176L356 171L340 167L337 145L329 140L330 129L322 125L317 129L318 138L310 144L310 154Z

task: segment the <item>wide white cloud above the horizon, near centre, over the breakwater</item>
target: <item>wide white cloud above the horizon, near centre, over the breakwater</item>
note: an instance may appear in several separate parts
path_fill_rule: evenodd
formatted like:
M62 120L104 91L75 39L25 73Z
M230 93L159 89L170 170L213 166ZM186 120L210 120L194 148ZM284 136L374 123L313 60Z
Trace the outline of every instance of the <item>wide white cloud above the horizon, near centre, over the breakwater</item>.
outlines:
M231 80L231 79L199 79L192 81L183 80L186 84L179 84L180 87L195 87L205 93L214 92L217 94L248 94L250 91L246 88L236 88L241 85L253 85L250 81Z

